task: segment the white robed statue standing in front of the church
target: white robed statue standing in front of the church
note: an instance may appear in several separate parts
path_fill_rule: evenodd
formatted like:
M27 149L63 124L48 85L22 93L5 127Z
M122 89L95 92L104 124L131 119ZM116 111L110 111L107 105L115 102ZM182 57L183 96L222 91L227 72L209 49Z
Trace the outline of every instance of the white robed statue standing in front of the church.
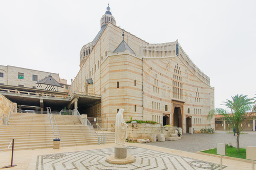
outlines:
M124 109L120 109L116 115L116 147L126 147L127 124L123 117Z

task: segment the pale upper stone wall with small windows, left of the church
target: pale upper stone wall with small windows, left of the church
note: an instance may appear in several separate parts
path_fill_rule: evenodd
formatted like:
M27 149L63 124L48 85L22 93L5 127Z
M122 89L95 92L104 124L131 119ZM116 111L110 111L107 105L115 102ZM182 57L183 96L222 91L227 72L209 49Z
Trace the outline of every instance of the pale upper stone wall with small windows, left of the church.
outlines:
M43 72L38 70L31 70L31 69L25 69L21 67L14 67L14 66L7 66L8 67L8 84L10 86L19 86L23 85L24 87L33 88L36 87L36 82L38 80L44 79L45 77L48 77L50 74L52 77L60 82L59 74L56 73L50 73L50 72ZM18 78L18 74L23 73L23 79ZM37 75L37 81L33 81L33 75Z

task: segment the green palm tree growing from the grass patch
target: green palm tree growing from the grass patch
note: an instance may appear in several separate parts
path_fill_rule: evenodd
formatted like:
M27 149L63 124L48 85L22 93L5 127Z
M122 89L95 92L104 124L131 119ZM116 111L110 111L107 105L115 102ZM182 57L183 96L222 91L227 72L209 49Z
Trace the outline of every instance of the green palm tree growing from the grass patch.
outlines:
M223 105L227 106L227 109L215 108L209 112L207 117L210 120L214 115L222 115L226 121L228 121L232 127L236 130L236 150L239 151L239 134L245 128L245 124L249 124L255 113L253 112L253 104L255 103L254 98L248 98L246 95L236 95L231 97L232 100L223 101ZM242 125L244 123L244 126ZM254 128L254 127L253 127Z

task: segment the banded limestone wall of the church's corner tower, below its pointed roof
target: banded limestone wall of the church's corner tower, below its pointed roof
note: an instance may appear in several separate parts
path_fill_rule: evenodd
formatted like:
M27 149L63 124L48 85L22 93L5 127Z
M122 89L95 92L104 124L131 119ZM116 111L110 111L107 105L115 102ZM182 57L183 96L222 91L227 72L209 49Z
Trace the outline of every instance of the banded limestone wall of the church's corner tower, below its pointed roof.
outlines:
M125 121L131 117L142 120L142 60L124 52L113 53L105 62L101 80L102 113L106 114L108 129L121 108Z

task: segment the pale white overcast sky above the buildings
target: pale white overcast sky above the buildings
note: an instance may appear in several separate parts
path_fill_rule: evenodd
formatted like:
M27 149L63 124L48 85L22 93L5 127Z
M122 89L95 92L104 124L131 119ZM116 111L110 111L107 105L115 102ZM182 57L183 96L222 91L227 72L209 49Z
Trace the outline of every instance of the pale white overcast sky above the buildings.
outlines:
M108 3L117 26L148 43L178 39L210 77L215 107L255 96L256 1L1 0L0 65L59 73L70 84Z

